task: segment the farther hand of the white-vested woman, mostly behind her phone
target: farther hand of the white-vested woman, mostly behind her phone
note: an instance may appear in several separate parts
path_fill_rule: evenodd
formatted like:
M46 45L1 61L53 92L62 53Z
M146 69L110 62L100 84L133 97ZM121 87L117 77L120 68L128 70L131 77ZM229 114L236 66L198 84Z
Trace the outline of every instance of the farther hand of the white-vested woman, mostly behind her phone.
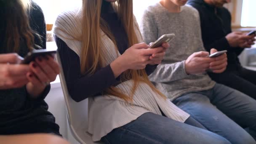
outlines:
M159 47L159 48L163 48L163 51L160 51L159 53L153 53L152 56L149 57L149 59L151 60L149 64L150 65L161 64L163 57L165 56L165 51L169 47L170 47L169 43L163 43L162 47Z

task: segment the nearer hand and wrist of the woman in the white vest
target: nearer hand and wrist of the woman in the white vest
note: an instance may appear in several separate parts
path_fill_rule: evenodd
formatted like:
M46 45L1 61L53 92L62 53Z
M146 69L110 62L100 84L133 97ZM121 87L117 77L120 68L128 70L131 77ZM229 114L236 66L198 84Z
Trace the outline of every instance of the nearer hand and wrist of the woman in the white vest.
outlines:
M163 50L163 47L149 48L146 43L135 44L113 61L110 67L115 77L118 77L127 69L144 69L147 64L152 63L149 57Z

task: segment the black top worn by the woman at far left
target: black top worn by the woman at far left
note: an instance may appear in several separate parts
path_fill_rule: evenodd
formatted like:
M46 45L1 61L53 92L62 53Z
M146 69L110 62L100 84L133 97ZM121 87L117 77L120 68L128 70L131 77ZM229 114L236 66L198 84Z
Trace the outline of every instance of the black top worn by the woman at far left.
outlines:
M2 8L0 8L1 11ZM0 12L0 19L3 18L3 11ZM46 48L45 19L41 8L32 3L32 10L29 13L30 27L41 35L41 39L35 35L35 44ZM0 21L0 53L6 53L3 48L3 37L5 31L4 21ZM20 56L25 56L29 49L22 41L20 45ZM56 133L59 134L59 126L55 118L48 112L48 105L44 99L50 91L48 85L42 95L37 99L31 99L26 87L9 90L0 90L0 135L20 133Z

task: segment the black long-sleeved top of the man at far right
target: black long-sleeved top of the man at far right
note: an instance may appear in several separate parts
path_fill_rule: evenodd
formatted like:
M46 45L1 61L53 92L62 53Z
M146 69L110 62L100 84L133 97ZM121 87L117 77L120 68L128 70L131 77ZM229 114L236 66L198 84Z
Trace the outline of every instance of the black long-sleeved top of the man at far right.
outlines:
M232 48L225 37L232 32L231 15L227 8L214 7L205 3L204 0L189 0L188 4L196 8L200 14L205 49L207 51L210 51L211 48L216 48L218 51L227 50L227 69L240 67L237 56L240 55L243 48Z

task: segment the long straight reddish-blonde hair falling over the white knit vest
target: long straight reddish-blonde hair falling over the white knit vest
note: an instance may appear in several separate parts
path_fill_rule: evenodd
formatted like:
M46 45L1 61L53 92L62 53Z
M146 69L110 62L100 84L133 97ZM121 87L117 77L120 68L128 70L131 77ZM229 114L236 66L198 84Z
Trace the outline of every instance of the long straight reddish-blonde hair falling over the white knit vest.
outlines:
M102 0L83 0L83 22L82 22L82 35L80 35L80 41L82 41L82 53L81 53L81 73L83 75L92 75L100 67L103 67L104 56L101 51L101 35L102 30L110 39L115 43L115 39L106 26L103 19L101 19L101 4ZM134 18L133 18L133 1L132 0L117 0L113 5L115 11L121 20L125 32L128 36L128 46L139 43L138 36L135 32ZM138 28L138 27L137 27ZM116 44L115 44L116 45ZM116 51L117 45L116 45ZM148 75L145 69L141 70L126 70L121 75L121 81L133 80L133 88L130 96L122 93L120 89L112 86L107 88L104 93L114 95L125 101L132 101L133 94L140 82L148 84L153 91L157 92L160 96L165 96L158 91L155 86L148 79Z

